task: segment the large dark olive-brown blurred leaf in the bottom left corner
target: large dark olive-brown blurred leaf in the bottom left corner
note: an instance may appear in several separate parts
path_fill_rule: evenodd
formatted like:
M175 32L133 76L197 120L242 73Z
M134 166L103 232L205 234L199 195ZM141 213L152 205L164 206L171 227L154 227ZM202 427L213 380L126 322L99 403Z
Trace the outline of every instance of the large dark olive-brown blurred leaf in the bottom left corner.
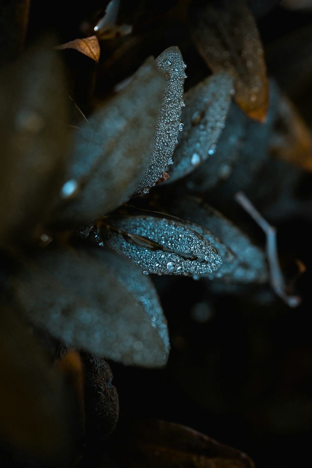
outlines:
M75 405L15 312L0 313L0 439L44 466L69 466Z

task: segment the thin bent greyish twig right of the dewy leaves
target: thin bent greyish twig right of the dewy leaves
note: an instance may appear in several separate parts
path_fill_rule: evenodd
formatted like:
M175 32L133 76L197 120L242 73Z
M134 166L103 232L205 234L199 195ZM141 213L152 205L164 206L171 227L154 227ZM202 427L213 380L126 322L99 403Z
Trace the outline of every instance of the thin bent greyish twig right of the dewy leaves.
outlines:
M261 216L243 192L237 192L235 194L235 200L261 227L264 234L266 234L266 252L270 271L270 283L273 290L289 307L297 307L301 299L298 296L289 296L286 292L286 285L277 255L276 228L271 226L268 221Z

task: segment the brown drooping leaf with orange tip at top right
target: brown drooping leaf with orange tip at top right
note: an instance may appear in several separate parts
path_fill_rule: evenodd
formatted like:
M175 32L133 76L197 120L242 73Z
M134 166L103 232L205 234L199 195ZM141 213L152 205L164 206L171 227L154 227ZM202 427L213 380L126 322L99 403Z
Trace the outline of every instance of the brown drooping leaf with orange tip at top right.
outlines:
M268 80L259 32L246 0L210 0L193 8L197 50L214 72L235 79L234 99L249 117L265 121Z

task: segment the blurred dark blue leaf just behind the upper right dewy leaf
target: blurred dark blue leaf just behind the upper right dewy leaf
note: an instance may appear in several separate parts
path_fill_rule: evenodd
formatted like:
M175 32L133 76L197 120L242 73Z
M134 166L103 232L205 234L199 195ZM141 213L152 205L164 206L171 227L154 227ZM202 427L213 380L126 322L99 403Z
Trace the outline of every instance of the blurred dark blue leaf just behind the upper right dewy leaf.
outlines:
M232 102L225 121L225 129L218 139L214 154L189 175L186 187L202 194L212 190L219 181L226 180L239 159L246 138L247 116Z

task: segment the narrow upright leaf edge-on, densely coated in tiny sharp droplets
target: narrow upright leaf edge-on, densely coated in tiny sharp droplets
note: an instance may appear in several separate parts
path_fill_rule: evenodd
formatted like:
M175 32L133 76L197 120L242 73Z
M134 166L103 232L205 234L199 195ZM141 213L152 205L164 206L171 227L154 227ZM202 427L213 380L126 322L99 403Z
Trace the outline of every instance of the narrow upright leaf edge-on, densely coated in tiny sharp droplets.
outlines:
M166 73L168 78L157 117L152 157L134 195L142 193L146 187L152 187L160 179L167 166L170 165L168 161L172 161L179 130L183 130L181 102L185 73L184 62L178 47L169 47L162 52L156 59L156 66L161 72Z

